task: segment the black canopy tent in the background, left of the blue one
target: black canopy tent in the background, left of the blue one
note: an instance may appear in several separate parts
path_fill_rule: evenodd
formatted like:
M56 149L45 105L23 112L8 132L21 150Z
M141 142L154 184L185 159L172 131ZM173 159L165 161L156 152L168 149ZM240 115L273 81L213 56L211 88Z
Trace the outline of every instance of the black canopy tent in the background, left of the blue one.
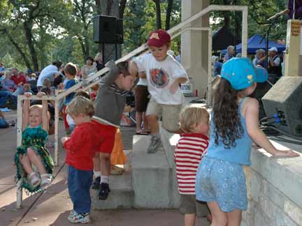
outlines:
M212 50L224 50L229 45L237 45L240 43L241 40L236 40L235 37L231 31L227 27L222 27L221 29L217 30L213 34L212 38Z

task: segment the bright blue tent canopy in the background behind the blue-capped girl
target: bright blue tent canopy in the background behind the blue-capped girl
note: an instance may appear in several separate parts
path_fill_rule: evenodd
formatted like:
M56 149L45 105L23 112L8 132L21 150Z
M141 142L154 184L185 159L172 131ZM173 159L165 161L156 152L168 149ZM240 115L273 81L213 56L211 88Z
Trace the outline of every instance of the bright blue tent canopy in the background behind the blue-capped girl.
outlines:
M262 41L263 37L262 36L259 36L257 33L254 34L254 36L250 37L248 40L247 40L247 54L254 54L256 53L256 50L258 49L264 49L266 48L266 39L264 38ZM260 43L261 41L261 43ZM275 43L271 40L268 40L268 48L271 48L271 47L276 47L278 49L278 52L282 52L285 50L285 45L281 45L279 43ZM241 48L242 48L242 45L241 43L236 45L236 52L241 52ZM222 50L222 53L226 54L227 53L227 50Z

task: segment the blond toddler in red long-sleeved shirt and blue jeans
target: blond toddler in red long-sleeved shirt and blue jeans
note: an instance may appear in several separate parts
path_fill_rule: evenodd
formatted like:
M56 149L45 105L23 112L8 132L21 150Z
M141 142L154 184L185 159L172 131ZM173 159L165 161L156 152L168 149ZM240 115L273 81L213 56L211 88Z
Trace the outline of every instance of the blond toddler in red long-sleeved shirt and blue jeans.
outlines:
M93 158L102 141L96 126L91 122L94 106L85 97L75 97L66 107L66 113L75 122L71 137L62 137L66 149L68 165L68 188L73 202L73 210L69 214L71 223L89 223L91 197L89 188L92 184Z

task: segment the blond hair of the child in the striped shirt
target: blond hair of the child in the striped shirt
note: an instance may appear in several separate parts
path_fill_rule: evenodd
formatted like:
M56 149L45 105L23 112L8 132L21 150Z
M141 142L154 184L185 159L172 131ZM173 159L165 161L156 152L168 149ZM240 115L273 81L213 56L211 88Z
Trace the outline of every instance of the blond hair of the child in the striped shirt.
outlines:
M190 133L201 121L208 123L210 114L204 107L185 107L180 113L180 128Z

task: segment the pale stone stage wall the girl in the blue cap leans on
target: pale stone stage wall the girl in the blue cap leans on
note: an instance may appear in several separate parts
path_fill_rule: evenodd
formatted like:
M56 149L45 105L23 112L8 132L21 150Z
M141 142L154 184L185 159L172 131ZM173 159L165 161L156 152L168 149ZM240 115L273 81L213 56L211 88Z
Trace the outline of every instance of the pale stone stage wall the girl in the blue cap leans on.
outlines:
M251 158L252 166L245 167L249 205L241 226L302 225L302 157L273 158L254 148Z

